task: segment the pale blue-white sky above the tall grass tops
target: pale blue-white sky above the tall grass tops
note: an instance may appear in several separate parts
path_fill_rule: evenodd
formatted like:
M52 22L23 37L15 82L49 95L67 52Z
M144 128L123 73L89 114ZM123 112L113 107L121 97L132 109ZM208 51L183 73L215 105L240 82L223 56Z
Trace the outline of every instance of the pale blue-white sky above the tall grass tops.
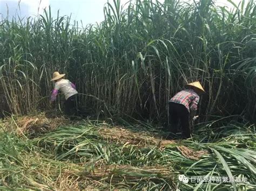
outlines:
M112 0L109 1L112 2ZM127 1L121 0L121 3L125 4ZM189 2L191 0L183 1ZM57 11L59 10L60 16L72 13L72 20L82 20L84 25L95 24L104 20L103 8L106 2L107 0L0 0L0 17L6 17L8 11L10 17L15 15L19 15L22 18L34 17L38 13L42 14L43 9L51 5L53 18L57 16ZM238 4L240 0L233 0L233 2ZM227 5L232 8L227 0L217 0L217 4Z

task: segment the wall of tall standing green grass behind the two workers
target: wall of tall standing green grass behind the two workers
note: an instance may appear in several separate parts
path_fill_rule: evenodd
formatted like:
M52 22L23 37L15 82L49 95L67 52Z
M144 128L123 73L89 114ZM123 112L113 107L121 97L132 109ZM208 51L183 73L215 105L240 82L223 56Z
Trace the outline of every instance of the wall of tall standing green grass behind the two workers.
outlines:
M105 20L83 29L70 17L3 20L0 93L15 114L49 107L53 71L66 73L84 105L106 116L166 118L166 103L186 82L207 94L200 116L255 119L256 8L232 11L211 0L187 4L119 0ZM80 26L80 25L79 25Z

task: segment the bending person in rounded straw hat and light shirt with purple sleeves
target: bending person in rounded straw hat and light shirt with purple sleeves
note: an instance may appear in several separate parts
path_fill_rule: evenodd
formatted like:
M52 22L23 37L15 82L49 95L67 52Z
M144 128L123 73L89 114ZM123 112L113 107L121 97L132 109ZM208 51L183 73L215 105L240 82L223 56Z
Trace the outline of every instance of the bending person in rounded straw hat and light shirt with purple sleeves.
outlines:
M58 91L65 95L65 114L68 116L78 116L82 111L78 109L78 92L75 84L64 79L65 74L54 72L51 81L55 82L55 87L51 94L51 102L56 100Z

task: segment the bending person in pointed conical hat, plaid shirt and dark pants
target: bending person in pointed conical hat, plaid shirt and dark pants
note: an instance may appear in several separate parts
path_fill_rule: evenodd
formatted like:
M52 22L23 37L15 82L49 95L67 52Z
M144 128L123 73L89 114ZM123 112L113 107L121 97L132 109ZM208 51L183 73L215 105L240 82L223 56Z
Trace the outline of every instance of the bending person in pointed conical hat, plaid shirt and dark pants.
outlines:
M179 91L169 101L169 115L171 122L171 132L177 133L177 126L181 122L182 135L184 138L191 136L190 116L195 120L199 96L205 93L200 82L186 84L186 89Z

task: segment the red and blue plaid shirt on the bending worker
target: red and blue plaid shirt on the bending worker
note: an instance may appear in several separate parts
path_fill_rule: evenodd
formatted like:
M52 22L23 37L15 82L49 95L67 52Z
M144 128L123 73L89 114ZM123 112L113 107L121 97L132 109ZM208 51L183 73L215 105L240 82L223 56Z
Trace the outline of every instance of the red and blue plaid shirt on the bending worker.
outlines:
M190 110L196 111L197 104L199 102L199 95L194 92L193 89L185 89L174 95L169 102L185 105L188 112L190 112Z

